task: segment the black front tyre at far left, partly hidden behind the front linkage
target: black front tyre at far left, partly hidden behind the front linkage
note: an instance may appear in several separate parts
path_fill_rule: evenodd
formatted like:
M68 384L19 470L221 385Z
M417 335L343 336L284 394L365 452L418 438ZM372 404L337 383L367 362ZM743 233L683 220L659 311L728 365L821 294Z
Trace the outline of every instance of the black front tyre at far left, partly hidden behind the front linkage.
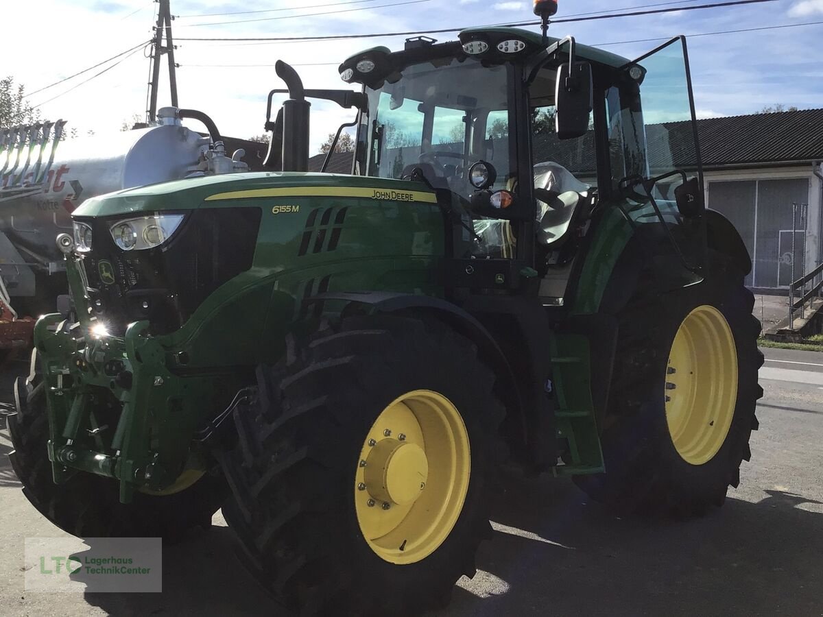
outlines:
M36 354L36 350L33 354ZM33 360L32 366L36 366ZM9 453L23 494L50 522L77 537L163 537L178 540L190 528L211 527L212 515L226 500L228 487L219 473L193 477L184 472L164 494L135 494L119 503L119 482L83 472L61 485L52 479L46 450L49 420L44 383L39 375L15 383L21 412L8 416L14 449Z

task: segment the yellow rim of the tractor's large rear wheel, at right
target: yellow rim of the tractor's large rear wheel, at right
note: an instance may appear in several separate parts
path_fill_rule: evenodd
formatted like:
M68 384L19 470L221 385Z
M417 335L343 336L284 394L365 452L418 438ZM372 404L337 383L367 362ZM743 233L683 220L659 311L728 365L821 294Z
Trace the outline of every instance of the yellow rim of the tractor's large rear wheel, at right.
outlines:
M666 371L666 421L682 459L703 465L726 441L737 405L737 350L726 318L704 305L686 316Z

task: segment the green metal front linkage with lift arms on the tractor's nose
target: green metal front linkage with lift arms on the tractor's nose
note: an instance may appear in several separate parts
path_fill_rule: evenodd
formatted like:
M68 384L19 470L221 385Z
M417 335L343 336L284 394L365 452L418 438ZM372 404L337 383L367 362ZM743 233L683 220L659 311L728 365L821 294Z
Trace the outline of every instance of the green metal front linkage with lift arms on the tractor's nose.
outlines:
M146 334L146 321L130 324L123 338L108 336L93 315L83 260L72 252L71 237L59 236L58 246L79 321L45 315L34 334L54 482L62 484L77 471L114 478L120 480L121 503L130 503L135 489L185 488L175 485L182 472L205 468L203 453L189 448L205 379L171 373L169 352Z

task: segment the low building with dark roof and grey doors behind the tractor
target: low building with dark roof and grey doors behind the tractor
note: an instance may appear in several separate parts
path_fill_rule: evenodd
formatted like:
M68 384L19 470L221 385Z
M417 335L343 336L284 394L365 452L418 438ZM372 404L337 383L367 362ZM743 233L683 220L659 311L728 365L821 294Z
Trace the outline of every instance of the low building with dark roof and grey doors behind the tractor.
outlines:
M689 123L647 127L653 150L669 136L689 142ZM823 262L823 109L751 114L698 120L708 207L737 227L752 257L746 285L786 290L788 284ZM581 179L593 176L593 140L536 137L540 160L556 160ZM651 152L654 157L654 152ZM691 152L676 158L694 160ZM319 171L325 155L312 158ZM677 165L677 161L675 161ZM328 171L347 174L351 154L332 156ZM794 266L794 271L793 271Z

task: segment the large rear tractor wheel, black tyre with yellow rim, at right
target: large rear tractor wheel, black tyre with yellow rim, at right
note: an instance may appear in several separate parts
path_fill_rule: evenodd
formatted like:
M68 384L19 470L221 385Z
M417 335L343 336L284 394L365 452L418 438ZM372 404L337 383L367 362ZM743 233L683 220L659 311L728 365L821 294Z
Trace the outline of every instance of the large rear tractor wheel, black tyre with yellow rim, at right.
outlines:
M710 253L698 285L630 301L602 426L606 473L579 476L622 513L684 517L723 505L758 428L760 322L742 272Z

